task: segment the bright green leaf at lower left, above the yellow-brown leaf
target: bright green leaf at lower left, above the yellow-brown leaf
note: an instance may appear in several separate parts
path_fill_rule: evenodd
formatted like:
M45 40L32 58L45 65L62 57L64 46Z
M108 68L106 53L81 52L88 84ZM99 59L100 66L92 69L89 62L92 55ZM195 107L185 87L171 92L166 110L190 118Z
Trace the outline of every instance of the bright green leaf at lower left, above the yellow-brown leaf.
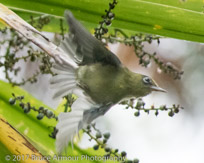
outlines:
M31 110L28 114L25 114L18 105L10 105L9 99L12 97L12 93L15 93L16 96L24 95L25 102L30 102L31 106L43 106L53 112L54 110L23 89L12 87L11 84L3 81L0 81L0 90L0 114L43 154L52 155L55 153L55 142L54 139L49 137L49 134L52 132L50 127L56 125L56 120L45 117L39 121L36 118L37 112Z

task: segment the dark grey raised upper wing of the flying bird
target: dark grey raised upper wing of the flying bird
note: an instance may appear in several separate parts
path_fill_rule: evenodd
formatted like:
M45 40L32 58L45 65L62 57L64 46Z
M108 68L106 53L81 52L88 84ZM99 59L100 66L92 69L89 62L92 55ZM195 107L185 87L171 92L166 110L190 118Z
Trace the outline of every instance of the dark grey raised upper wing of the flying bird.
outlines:
M106 49L103 44L93 37L72 15L65 11L65 18L69 25L69 35L61 43L61 47L72 56L79 65L86 65L100 62L119 66L120 60L111 51ZM71 53L70 53L71 52Z

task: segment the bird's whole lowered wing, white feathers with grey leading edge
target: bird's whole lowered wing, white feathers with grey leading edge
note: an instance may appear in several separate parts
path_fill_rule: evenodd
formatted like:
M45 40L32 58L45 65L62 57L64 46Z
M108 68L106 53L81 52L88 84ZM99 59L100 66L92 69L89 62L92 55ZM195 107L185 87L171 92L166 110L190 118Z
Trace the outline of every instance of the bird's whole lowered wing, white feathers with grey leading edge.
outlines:
M87 97L79 97L72 105L72 111L61 113L58 116L56 126L56 149L61 153L78 131L90 124L97 117L104 115L112 105L99 105L90 101Z

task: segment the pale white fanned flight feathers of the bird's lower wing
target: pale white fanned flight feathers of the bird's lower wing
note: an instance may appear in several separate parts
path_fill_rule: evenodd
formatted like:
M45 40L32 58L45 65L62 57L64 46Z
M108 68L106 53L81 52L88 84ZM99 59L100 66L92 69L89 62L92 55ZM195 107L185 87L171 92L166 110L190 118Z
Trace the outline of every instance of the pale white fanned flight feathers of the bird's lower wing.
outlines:
M92 103L86 97L79 97L72 105L72 111L67 113L60 113L58 116L58 124L56 126L58 133L56 135L56 149L61 153L73 140L73 137L78 131L88 124L84 120L84 112L99 107Z

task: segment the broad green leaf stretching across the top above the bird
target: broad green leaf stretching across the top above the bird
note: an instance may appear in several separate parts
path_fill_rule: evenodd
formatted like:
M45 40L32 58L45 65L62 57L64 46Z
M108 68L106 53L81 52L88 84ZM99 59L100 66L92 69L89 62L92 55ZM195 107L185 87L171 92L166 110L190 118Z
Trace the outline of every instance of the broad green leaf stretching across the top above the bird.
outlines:
M59 19L65 9L89 29L94 29L108 9L111 0L2 0L14 12L29 20L49 14L53 23L44 30L59 32ZM145 32L183 40L204 42L204 15L201 0L118 0L114 9L116 18L111 28L120 28L129 34Z

